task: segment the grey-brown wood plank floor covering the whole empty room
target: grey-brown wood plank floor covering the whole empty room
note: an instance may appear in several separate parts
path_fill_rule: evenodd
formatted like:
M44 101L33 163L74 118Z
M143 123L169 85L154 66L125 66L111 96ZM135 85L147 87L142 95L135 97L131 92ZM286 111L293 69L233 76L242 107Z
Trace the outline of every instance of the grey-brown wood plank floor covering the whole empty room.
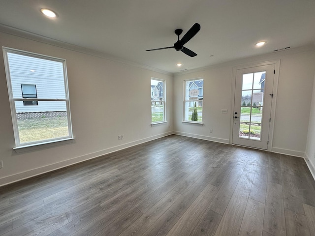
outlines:
M0 188L1 236L315 236L303 158L171 135Z

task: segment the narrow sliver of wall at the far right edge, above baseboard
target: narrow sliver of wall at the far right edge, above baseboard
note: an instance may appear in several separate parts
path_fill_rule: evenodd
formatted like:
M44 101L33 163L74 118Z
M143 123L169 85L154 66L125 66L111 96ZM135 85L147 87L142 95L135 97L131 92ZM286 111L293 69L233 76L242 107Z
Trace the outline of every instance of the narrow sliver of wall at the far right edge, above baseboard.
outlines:
M315 82L315 77L314 77ZM305 160L315 178L315 83L313 86L313 96L311 103L311 114L309 122L309 132L307 136Z

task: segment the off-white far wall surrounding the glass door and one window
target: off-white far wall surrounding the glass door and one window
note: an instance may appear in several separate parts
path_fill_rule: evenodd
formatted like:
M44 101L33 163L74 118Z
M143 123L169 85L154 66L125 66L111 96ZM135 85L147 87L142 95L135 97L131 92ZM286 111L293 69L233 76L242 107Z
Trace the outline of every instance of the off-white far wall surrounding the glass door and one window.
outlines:
M279 60L280 75L271 150L304 156L315 72L314 47L240 59L174 76L174 133L231 143L234 67ZM203 125L183 123L183 81L204 78ZM222 109L228 109L222 114ZM213 133L209 129L213 129Z

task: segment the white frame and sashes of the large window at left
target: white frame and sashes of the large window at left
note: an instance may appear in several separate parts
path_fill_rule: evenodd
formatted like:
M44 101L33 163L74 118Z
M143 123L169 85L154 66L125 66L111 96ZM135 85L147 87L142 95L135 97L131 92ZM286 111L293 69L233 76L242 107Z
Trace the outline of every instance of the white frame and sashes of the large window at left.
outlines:
M15 139L15 148L28 148L32 146L42 145L42 144L49 144L54 142L60 142L65 140L73 139L73 133L72 133L72 122L71 122L71 112L70 112L70 99L69 99L69 90L68 90L68 78L67 78L67 70L66 70L66 60L51 56L46 56L42 54L27 52L23 50L13 49L13 48L7 48L2 47L3 52L3 59L4 59L4 67L5 67L5 74L6 74L6 81L7 81L7 87L8 87L8 94L9 94L9 102L10 102L10 108L11 108L11 117L12 117L12 123L13 123L13 132L14 132L14 139ZM13 90L12 90L12 82L11 82L11 75L10 75L10 67L9 67L9 60L8 60L8 53L12 54L18 54L22 56L27 57L33 57L38 59L45 59L45 60L52 60L61 62L63 64L63 82L64 82L64 99L60 98L14 98L13 96ZM21 88L22 89L22 88ZM37 90L36 90L37 93ZM15 108L15 101L64 101L66 105L66 112L67 112L67 123L68 123L68 136L63 137L57 137L57 138L51 138L51 139L45 139L45 140L39 140L39 141L33 141L33 142L27 142L27 143L20 143L20 136L19 136L19 128L18 128L18 119L16 115L16 108Z

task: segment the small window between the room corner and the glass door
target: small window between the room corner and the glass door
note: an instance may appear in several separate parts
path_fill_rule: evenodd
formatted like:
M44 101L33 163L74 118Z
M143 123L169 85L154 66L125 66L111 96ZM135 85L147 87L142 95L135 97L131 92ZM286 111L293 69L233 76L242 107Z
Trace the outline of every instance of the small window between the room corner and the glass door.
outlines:
M184 81L184 121L202 123L203 78Z

